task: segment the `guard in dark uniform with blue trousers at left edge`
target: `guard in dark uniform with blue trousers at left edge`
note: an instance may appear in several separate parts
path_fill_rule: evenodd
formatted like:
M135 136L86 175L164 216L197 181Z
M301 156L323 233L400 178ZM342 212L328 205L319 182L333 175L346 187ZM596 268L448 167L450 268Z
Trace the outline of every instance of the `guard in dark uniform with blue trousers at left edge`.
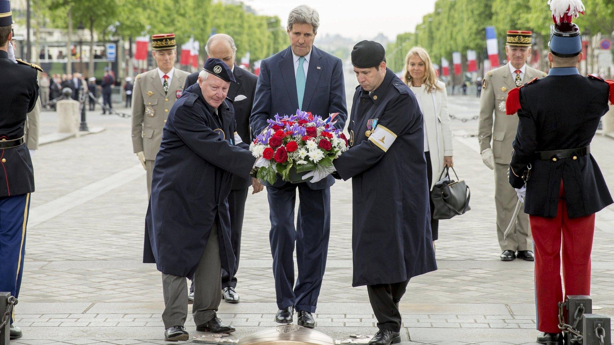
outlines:
M19 298L26 244L30 193L34 172L23 138L26 114L38 99L37 72L42 69L23 60L9 59L12 39L9 0L0 0L0 291ZM10 338L21 338L21 330L10 316Z

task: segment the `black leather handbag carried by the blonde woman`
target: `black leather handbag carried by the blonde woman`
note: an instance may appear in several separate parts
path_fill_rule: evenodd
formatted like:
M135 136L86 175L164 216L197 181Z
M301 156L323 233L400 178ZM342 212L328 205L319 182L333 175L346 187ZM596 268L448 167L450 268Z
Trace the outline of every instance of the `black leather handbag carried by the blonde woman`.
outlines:
M454 168L452 168L454 171ZM445 176L447 179L441 179ZM430 200L433 201L433 219L451 219L455 215L461 215L469 211L469 198L471 192L465 184L465 180L459 180L459 177L454 171L456 181L450 179L449 168L443 168L439 175L438 182L430 191Z

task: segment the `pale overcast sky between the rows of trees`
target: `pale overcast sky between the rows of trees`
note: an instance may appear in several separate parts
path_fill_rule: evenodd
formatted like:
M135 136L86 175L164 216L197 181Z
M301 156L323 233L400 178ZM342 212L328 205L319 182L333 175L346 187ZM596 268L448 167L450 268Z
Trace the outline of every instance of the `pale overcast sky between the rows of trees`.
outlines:
M353 39L384 33L394 41L397 34L414 31L422 16L433 12L435 0L244 0L258 14L277 15L286 26L295 6L308 4L320 13L321 34L341 34ZM316 38L317 41L317 38Z

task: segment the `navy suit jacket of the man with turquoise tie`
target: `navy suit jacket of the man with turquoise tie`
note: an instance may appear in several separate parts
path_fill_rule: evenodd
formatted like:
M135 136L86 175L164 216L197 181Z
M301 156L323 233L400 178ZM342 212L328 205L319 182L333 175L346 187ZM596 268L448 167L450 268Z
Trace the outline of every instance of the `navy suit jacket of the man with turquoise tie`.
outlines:
M303 104L303 111L320 115L322 118L338 112L335 126L343 130L348 118L343 63L339 58L319 50L315 45L311 47ZM297 81L292 48L288 47L260 63L254 107L249 118L252 133L260 134L268 126L266 120L274 118L275 114L293 115L297 109ZM308 185L309 188L317 190L328 188L334 183L335 179L328 176L315 184L308 182ZM286 182L278 179L273 187L282 187L284 184Z

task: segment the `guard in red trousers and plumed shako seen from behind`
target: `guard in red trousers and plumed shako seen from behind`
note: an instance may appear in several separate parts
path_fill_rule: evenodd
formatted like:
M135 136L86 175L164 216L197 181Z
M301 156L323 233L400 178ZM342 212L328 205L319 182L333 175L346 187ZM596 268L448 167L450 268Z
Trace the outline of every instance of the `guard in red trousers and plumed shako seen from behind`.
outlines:
M614 101L614 81L608 87L578 73L580 29L571 21L584 11L581 2L553 1L551 9L552 68L547 77L511 90L506 107L519 117L508 174L524 198L535 242L537 329L544 332L537 342L556 345L563 343L558 303L565 295L590 294L595 213L612 204L590 144L608 99Z

